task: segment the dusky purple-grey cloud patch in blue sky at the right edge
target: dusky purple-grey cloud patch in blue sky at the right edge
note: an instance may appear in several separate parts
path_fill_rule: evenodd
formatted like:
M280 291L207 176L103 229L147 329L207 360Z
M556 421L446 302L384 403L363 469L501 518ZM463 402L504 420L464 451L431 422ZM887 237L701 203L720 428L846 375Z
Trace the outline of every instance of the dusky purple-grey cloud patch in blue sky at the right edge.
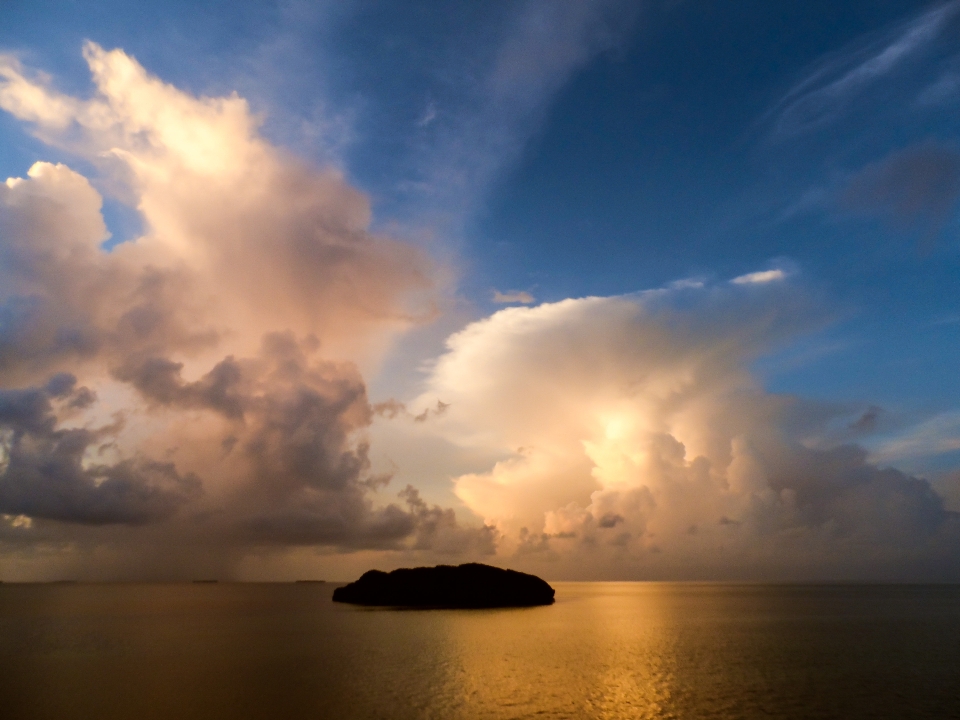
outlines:
M889 218L932 240L960 200L960 151L925 142L891 153L856 173L840 200L851 210Z

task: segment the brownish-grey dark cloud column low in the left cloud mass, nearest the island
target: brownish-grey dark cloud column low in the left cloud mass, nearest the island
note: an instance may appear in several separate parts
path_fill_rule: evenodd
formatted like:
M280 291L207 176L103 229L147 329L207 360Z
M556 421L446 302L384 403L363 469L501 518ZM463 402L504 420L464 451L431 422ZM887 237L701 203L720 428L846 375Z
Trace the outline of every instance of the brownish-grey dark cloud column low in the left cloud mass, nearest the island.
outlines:
M271 333L256 358L226 358L194 382L181 377L182 363L159 357L115 374L159 406L209 410L228 422L220 447L247 485L222 509L228 532L243 542L399 548L412 538L415 550L492 552L491 528L461 527L452 510L427 505L412 487L400 494L406 509L374 506L369 491L390 478L371 474L356 434L375 412L405 410L371 406L356 367L313 359L315 345Z

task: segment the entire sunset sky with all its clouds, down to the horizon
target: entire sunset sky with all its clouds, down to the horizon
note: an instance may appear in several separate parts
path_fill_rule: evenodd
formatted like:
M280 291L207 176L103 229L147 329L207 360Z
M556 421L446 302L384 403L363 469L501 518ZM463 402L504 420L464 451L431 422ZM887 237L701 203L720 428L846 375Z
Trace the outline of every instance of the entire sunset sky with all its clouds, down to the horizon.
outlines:
M0 579L960 581L960 0L0 3Z

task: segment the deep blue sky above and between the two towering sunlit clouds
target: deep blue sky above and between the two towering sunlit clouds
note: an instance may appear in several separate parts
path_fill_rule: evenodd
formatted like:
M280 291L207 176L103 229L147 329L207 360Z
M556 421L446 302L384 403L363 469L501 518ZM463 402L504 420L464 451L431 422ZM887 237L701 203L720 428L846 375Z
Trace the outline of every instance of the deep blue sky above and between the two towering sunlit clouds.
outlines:
M374 231L447 269L439 317L396 339L373 394L440 387L446 338L495 292L673 288L683 308L684 284L778 270L806 319L750 372L834 429L879 408L857 442L935 484L960 467L958 30L956 1L0 7L0 50L66 95L91 93L85 40L192 95L238 93L270 143L370 199ZM136 238L80 155L0 115L4 177L67 162L105 196L111 243ZM936 442L891 449L917 433Z

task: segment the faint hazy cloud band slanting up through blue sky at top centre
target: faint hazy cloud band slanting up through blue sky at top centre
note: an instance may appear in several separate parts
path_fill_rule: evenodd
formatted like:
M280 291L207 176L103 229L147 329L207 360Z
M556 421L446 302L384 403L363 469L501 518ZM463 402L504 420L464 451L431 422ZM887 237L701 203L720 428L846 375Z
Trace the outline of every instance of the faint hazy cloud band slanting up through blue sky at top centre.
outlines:
M453 221L463 222L516 159L564 83L619 47L642 9L643 3L626 0L526 0L511 8L492 53L486 46L469 55L462 48L451 52L456 60L445 79L456 76L457 92L451 96L447 83L437 88L448 95L444 112L428 106L421 122L432 142L414 158L416 179L407 184L418 212L443 219L455 208Z

